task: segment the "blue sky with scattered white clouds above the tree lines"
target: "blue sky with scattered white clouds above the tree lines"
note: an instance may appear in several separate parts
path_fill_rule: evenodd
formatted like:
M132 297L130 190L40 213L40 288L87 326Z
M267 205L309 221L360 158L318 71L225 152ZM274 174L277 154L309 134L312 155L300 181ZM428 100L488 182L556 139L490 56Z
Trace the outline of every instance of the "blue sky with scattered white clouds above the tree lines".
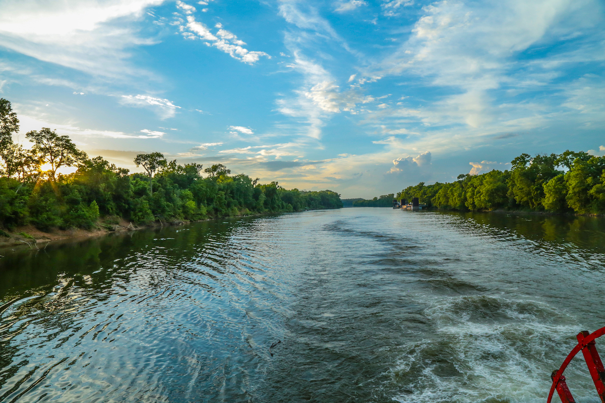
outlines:
M605 155L602 0L0 0L0 97L139 172L396 193Z

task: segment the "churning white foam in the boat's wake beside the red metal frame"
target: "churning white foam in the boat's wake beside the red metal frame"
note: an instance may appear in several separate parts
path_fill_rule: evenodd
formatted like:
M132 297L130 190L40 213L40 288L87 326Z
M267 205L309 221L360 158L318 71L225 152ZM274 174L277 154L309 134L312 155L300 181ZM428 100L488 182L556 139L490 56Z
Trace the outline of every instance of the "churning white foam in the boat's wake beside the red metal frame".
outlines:
M401 390L394 401L543 403L581 327L546 303L500 296L442 298L425 315L434 334L401 346L390 372ZM565 372L574 397L598 402L586 365L575 361Z

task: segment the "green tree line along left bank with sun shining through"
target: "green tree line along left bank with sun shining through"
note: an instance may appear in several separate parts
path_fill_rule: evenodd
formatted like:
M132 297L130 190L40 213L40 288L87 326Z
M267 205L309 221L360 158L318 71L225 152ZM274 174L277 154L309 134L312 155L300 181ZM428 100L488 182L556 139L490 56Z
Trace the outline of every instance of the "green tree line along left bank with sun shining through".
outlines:
M99 218L117 224L201 220L259 213L340 208L336 192L286 190L278 182L231 175L223 164L178 164L162 153L134 159L145 173L89 158L67 135L43 128L25 135L33 146L13 142L19 119L0 98L0 227L33 224L40 230L97 226ZM61 167L77 167L62 175Z

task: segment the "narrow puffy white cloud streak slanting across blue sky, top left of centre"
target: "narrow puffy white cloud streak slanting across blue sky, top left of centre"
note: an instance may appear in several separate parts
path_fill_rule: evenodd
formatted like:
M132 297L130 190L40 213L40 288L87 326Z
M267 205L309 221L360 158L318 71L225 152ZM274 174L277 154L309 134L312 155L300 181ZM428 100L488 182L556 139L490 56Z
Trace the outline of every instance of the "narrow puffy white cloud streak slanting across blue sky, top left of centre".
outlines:
M203 10L202 10L203 11ZM212 31L206 27L202 22L198 22L195 20L195 17L192 15L187 16L187 24L185 26L189 31L197 34L201 40L206 41L206 45L214 46L217 49L223 51L224 53L229 54L229 56L234 59L240 60L241 62L254 64L258 62L261 57L267 57L271 59L271 56L265 52L261 51L250 51L243 47L246 45L246 42L240 40L235 36L234 33L223 29L222 24L216 24L215 28L219 28L216 34L213 34ZM181 29L185 29L183 25L181 25ZM183 32L183 37L186 39L192 39L195 36L191 32Z

